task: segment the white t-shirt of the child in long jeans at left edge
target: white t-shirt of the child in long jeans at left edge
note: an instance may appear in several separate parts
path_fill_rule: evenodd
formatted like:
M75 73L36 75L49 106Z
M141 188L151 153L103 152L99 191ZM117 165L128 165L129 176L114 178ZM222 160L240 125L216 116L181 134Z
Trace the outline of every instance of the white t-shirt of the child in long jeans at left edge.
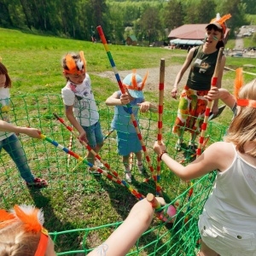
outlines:
M10 123L10 117L9 117L9 88L0 88L0 119L2 119L5 122ZM0 141L3 141L3 139L10 137L14 132L5 132L0 131Z

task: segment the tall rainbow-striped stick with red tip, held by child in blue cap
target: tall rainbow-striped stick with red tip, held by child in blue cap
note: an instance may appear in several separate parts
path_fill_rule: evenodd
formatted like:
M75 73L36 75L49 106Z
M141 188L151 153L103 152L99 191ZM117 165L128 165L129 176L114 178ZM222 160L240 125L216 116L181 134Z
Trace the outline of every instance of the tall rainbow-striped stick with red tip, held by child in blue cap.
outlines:
M114 61L113 61L113 57L112 57L112 55L111 55L111 52L110 52L110 50L108 49L108 43L107 43L107 40L106 40L106 38L105 38L105 36L104 36L104 33L103 33L103 31L102 31L102 26L97 26L97 31L99 32L99 35L100 35L100 37L101 37L101 39L102 39L102 44L104 45L104 48L105 48L105 50L106 50L106 52L107 52L108 60L110 61L111 66L113 67L113 73L114 73L115 78L117 79L117 82L118 82L118 84L119 84L119 89L121 90L122 94L125 94L125 89L124 89L123 84L122 84L122 81L121 81L121 79L120 79L120 77L119 77L119 73L118 73L117 67L115 66L115 63L114 63ZM151 173L152 173L152 177L153 177L154 181L156 181L156 177L155 177L155 175L154 175L154 168L153 168L153 166L152 166L152 164L151 164L151 160L150 160L150 158L149 158L148 151L147 151L147 148L146 148L146 146L145 146L145 143L143 142L142 134L141 134L141 132L140 132L138 126L137 126L137 121L136 121L136 119L135 119L135 117L134 117L134 114L132 113L131 104L127 104L126 107L128 108L128 112L129 112L130 115L131 115L131 121L132 121L132 124L133 124L134 127L135 127L136 132L137 132L137 137L139 138L139 141L140 141L140 143L142 144L143 152L144 152L145 158L146 158L146 160L147 160L147 162L148 162L149 170L150 170Z

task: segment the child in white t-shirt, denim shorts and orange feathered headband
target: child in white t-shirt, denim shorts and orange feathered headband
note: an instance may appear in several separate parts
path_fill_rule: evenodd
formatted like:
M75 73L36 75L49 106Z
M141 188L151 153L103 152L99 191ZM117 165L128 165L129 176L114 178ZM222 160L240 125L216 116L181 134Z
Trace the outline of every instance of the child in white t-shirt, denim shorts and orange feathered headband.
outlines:
M90 86L90 76L86 73L84 52L71 53L62 58L63 74L67 79L61 90L66 108L66 116L74 128L79 131L79 140L85 141L96 153L103 146L103 135L96 102ZM95 156L88 151L87 160L94 165ZM89 172L99 174L89 168Z

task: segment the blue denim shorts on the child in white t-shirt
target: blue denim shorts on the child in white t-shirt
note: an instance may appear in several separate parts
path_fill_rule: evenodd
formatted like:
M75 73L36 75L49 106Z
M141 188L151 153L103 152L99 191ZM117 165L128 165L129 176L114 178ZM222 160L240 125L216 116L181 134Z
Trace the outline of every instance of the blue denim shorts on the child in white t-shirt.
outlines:
M88 139L88 144L90 148L96 148L96 145L103 143L103 134L101 123L98 121L96 124L91 126L83 126L84 131L86 132L86 137Z

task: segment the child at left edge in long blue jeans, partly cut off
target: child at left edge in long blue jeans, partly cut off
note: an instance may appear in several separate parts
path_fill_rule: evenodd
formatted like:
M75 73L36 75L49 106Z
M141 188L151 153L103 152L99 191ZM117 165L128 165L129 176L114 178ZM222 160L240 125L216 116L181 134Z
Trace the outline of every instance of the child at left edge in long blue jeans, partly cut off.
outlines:
M0 119L3 119L3 121L6 122L9 122L10 87L11 80L9 78L8 70L3 63L0 62ZM12 131L15 130L16 129L13 129ZM27 164L25 151L14 132L0 131L0 151L2 148L15 161L15 164L20 172L20 176L26 181L27 187L37 189L47 187L48 184L44 179L34 177L32 175L32 172Z

